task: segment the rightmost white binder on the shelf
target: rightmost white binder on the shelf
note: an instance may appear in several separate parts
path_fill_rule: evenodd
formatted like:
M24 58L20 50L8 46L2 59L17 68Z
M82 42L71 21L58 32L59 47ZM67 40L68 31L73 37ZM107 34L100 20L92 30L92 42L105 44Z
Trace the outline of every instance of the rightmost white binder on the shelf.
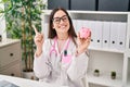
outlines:
M117 49L123 50L126 46L127 23L119 22Z

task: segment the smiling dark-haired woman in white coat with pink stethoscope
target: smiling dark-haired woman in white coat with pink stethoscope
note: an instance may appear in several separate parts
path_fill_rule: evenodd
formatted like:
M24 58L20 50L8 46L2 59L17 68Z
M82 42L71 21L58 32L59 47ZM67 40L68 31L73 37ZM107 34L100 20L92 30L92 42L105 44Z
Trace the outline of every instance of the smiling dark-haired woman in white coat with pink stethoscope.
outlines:
M91 36L91 34L90 34ZM54 9L49 20L49 38L36 30L34 72L43 82L68 87L84 87L90 37L76 35L67 11Z

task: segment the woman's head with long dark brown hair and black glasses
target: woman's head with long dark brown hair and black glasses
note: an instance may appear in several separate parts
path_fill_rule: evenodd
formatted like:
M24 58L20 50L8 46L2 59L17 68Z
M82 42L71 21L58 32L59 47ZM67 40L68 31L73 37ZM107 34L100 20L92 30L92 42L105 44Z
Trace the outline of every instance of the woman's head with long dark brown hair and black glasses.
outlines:
M72 18L67 11L63 8L52 10L49 16L49 35L48 38L57 37L77 37L73 26Z

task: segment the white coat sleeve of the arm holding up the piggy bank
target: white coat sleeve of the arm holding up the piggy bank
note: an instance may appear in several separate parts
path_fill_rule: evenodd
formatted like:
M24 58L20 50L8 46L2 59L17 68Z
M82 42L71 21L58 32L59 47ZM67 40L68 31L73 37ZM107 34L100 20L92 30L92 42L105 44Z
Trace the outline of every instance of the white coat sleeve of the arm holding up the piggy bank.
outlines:
M67 70L68 77L74 82L84 77L88 69L88 61L89 58L86 52L78 57L73 55L72 64Z

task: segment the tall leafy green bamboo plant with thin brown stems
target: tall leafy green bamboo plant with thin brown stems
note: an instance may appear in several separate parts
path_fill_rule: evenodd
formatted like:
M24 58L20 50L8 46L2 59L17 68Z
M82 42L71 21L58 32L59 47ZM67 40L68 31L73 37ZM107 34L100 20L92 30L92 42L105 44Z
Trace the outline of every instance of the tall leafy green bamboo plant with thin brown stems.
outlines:
M32 72L34 62L34 36L31 25L41 30L41 13L46 8L43 0L1 0L4 3L8 37L21 39L23 71Z

